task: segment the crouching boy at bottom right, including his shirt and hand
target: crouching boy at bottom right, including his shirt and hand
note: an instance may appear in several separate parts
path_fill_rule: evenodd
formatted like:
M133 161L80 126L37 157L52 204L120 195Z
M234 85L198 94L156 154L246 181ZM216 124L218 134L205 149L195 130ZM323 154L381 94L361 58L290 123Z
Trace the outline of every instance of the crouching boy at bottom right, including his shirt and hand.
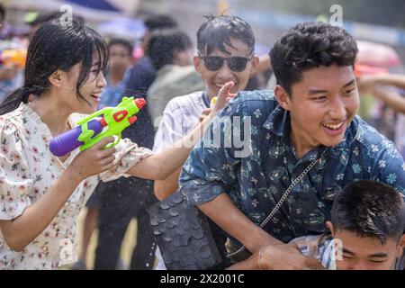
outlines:
M405 269L405 203L391 186L371 180L348 184L336 196L326 225L331 234L295 238L291 244L329 270ZM257 262L266 269L272 257L272 247L264 247L232 268Z

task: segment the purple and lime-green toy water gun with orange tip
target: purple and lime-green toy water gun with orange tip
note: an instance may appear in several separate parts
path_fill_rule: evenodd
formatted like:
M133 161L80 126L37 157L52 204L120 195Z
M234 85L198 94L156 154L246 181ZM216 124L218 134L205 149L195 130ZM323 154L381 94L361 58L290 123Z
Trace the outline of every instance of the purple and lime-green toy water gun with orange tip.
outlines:
M120 141L122 130L137 121L137 117L133 115L145 105L146 101L143 98L134 100L133 97L123 97L116 107L105 107L94 112L77 121L76 128L51 139L49 150L53 155L62 157L78 147L83 151L105 137L116 136L117 139L106 146L106 148L113 147Z

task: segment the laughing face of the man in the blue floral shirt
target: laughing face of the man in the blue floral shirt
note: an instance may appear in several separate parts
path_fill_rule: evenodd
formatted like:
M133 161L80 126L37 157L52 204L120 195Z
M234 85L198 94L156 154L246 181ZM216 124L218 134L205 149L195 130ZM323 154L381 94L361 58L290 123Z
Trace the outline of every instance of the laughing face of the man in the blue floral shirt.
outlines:
M305 71L291 95L280 85L275 94L290 111L292 140L301 157L320 145L341 143L359 105L353 68L337 65Z

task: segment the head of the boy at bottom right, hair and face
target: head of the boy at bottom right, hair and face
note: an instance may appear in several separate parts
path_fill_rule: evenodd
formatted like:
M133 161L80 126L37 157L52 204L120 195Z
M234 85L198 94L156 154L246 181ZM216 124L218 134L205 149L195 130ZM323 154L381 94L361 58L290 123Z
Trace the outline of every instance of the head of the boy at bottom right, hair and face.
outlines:
M338 270L405 269L405 204L391 186L369 180L347 185L327 226L342 244Z

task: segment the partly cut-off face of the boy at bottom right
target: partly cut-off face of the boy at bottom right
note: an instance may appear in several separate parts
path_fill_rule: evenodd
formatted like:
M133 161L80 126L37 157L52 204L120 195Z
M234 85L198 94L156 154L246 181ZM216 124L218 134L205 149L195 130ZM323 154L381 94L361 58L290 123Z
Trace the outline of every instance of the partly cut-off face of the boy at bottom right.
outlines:
M403 244L394 238L383 245L378 238L363 238L347 230L337 230L333 237L343 246L342 257L336 261L338 270L392 270L403 252Z

